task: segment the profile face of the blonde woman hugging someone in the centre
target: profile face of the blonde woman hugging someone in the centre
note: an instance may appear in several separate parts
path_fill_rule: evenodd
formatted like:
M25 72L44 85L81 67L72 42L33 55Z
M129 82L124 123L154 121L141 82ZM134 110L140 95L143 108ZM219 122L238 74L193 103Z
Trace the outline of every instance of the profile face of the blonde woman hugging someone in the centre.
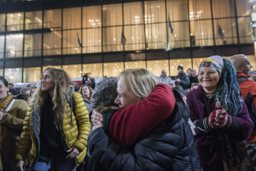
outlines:
M129 90L129 92L125 93L123 86L118 82L118 97L115 99L115 104L118 104L120 108L126 108L131 106L134 103L138 103L141 101L141 97L138 97L136 94Z

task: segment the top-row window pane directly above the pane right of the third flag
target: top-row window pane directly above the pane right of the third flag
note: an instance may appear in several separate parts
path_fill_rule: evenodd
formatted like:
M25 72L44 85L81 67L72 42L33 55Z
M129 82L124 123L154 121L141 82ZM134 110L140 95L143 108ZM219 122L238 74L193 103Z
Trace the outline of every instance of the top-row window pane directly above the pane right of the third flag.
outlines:
M170 22L188 20L188 0L167 0L166 5Z

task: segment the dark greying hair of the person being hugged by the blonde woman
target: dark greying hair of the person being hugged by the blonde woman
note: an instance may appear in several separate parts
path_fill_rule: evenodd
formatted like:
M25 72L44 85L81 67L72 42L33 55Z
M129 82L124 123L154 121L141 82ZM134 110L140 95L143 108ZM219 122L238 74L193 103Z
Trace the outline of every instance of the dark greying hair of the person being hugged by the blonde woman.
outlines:
M96 109L97 106L115 106L115 98L118 96L117 86L116 77L109 77L97 83L91 99L92 109Z

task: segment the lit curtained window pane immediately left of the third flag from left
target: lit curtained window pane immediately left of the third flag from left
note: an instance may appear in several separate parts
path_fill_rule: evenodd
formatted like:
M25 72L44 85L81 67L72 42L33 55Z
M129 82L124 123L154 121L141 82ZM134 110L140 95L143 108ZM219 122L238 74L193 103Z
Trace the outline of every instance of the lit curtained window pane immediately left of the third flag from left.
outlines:
M166 23L146 25L147 49L167 48Z

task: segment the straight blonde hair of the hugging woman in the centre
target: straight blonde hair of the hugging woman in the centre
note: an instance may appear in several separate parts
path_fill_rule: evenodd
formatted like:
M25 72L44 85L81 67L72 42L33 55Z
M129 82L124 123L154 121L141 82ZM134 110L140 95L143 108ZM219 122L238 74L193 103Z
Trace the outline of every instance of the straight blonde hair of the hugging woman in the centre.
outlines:
M156 76L144 68L127 69L120 73L118 84L123 86L125 93L132 90L134 94L142 99L149 96L156 88Z

